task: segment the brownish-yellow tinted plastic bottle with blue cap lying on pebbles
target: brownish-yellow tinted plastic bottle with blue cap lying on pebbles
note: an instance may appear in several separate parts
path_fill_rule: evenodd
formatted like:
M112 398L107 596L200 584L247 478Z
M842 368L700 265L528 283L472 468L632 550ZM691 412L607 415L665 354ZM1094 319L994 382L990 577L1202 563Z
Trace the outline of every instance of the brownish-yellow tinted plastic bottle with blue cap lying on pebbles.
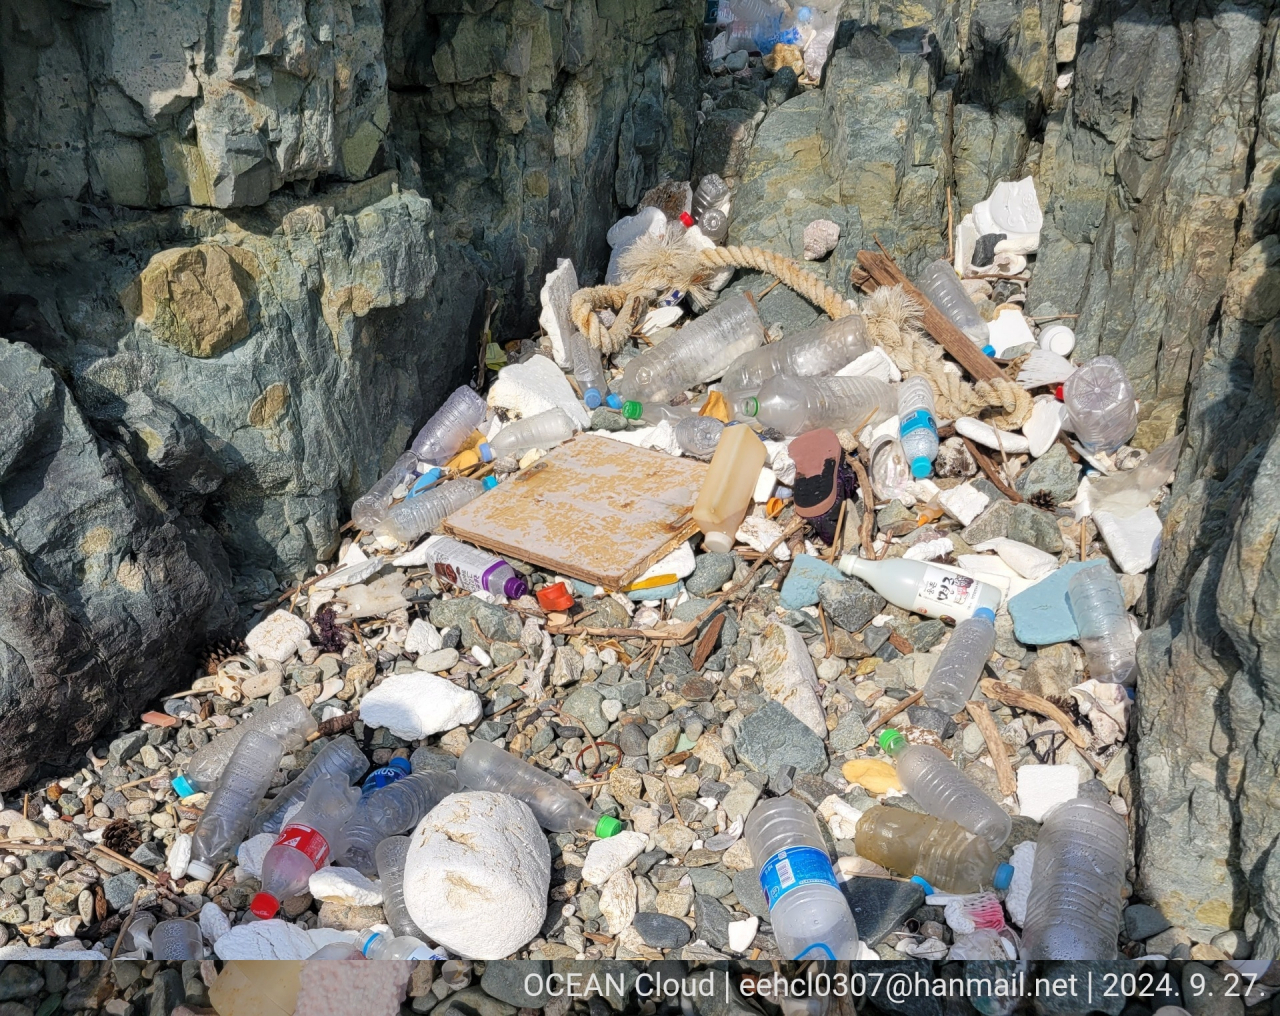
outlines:
M876 805L864 811L854 846L859 857L900 875L919 875L943 892L975 893L988 885L1007 889L1014 877L1012 865L996 864L980 836L901 807Z

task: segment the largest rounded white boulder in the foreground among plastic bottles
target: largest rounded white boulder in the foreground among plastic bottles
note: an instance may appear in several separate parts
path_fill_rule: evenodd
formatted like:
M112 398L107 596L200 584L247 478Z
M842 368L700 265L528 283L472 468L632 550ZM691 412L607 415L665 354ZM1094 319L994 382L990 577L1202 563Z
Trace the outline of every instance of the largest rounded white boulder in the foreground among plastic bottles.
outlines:
M404 905L451 953L502 960L541 928L550 878L547 834L529 805L504 793L454 793L411 834Z

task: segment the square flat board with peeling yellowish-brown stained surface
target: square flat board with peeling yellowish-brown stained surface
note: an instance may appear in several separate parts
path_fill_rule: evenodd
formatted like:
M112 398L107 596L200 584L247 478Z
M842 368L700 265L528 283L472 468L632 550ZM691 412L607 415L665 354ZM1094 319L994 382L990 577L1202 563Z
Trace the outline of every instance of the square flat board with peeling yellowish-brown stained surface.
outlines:
M582 434L463 505L444 531L607 590L632 582L698 527L708 466Z

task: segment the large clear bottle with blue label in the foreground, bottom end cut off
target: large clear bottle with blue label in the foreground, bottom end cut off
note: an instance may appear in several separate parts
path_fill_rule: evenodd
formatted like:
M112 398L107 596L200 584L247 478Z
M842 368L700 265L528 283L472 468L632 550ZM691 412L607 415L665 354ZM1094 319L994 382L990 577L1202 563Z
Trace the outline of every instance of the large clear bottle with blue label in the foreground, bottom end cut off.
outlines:
M856 960L858 924L813 811L794 797L762 801L746 819L745 836L782 956Z

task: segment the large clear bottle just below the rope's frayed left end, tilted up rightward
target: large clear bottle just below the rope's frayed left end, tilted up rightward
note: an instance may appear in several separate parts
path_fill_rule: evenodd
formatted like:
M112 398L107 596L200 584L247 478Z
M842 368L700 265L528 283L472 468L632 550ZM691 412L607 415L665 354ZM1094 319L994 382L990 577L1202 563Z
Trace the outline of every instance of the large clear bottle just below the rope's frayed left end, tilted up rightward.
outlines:
M730 297L632 358L620 388L627 399L667 402L691 385L716 380L737 357L763 344L764 325L755 307L746 297Z

